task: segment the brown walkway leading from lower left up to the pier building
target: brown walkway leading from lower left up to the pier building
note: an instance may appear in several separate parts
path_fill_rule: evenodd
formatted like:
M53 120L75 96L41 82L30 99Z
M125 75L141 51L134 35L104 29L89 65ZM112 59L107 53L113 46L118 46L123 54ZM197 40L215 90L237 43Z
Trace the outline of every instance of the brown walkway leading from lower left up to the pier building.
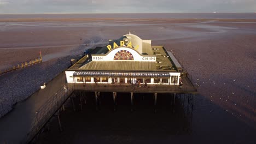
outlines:
M30 131L32 118L66 82L65 72L56 76L25 101L14 106L13 111L0 118L0 143L20 143Z

